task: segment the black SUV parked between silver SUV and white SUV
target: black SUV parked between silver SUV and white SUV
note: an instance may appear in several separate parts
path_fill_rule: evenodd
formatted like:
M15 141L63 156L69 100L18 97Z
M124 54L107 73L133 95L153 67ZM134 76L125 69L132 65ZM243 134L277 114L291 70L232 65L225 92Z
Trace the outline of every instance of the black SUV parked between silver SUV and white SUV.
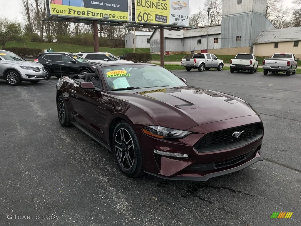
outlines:
M95 72L95 68L101 64L91 63L74 53L46 52L40 53L35 62L43 64L47 78L55 76L68 76L72 74L84 74Z

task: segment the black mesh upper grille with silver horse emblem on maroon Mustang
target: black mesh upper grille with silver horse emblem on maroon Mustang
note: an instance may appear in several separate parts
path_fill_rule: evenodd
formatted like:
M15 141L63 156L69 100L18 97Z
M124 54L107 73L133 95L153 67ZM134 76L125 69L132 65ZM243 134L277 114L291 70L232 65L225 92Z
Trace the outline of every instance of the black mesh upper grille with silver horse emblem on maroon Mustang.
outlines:
M244 131L244 132L243 132ZM242 132L235 138L235 132ZM198 152L216 151L221 149L235 148L251 143L263 135L261 123L249 124L231 129L208 133L194 145Z

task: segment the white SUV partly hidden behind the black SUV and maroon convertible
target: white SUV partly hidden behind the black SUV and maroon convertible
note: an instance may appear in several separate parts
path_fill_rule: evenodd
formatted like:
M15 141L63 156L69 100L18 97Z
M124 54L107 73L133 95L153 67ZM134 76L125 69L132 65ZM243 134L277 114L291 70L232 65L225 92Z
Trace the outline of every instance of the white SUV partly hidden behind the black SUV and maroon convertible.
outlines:
M108 52L79 52L76 54L90 62L99 64L134 63L133 61L120 60L118 57Z

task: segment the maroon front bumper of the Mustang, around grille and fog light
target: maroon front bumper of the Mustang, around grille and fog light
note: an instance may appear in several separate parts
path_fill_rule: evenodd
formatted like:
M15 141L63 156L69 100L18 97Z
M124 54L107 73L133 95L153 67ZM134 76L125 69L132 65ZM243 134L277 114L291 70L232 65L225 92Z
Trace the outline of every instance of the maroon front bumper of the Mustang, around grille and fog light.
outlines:
M258 122L261 122L259 117L252 115L209 123L189 129L194 133L176 141L157 139L141 131L139 143L143 150L144 171L169 180L208 180L246 168L263 160L259 152L263 136L243 146L211 152L197 152L194 145L207 133ZM163 156L155 154L154 149L188 154L189 157Z

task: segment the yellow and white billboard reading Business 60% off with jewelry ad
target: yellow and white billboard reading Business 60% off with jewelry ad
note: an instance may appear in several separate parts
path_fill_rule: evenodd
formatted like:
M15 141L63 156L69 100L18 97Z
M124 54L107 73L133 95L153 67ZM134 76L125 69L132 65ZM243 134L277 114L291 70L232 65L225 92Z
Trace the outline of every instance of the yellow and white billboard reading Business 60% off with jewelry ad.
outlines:
M188 0L135 0L137 23L188 27Z

